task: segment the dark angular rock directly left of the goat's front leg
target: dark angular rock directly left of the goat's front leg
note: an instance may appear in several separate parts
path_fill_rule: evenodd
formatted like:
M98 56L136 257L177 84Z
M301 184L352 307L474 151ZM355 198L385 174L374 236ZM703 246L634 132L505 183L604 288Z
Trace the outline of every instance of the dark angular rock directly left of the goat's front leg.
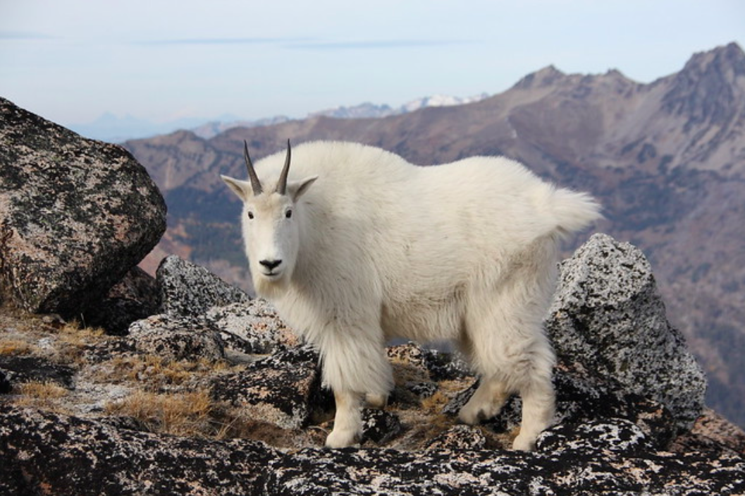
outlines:
M305 426L314 408L330 399L321 388L318 354L310 348L280 351L245 371L218 377L212 395L237 406L244 418L282 429Z

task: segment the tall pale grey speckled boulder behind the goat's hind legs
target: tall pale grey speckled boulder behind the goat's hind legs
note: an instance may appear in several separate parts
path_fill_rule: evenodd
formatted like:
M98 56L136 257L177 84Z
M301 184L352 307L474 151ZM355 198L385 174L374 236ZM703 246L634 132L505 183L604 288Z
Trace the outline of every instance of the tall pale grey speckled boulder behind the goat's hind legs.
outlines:
M706 377L669 324L638 248L592 236L562 263L546 327L562 360L659 401L682 430L702 412Z

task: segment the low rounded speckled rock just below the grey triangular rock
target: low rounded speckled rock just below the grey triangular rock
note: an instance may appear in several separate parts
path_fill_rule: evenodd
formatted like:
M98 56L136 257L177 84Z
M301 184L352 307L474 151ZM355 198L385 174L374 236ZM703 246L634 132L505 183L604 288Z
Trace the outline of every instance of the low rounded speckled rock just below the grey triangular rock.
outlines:
M222 360L220 334L206 321L162 314L130 325L128 341L143 354L168 360Z

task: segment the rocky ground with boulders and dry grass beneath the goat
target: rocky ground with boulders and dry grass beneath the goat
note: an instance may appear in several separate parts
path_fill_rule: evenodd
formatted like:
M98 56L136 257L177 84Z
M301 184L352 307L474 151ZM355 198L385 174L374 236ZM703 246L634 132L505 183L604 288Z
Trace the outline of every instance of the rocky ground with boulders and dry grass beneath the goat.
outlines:
M561 265L545 322L557 415L535 452L507 449L519 398L458 424L478 378L415 343L388 348L396 389L365 410L360 445L329 450L316 352L200 266L133 269L162 233L157 198L122 186L103 205L70 193L72 210L29 210L60 184L121 171L77 151L95 143L0 104L0 494L745 494L745 433L704 405L706 377L632 245L595 235ZM107 156L128 163L120 151ZM54 180L17 180L34 175ZM112 228L118 242L101 248Z

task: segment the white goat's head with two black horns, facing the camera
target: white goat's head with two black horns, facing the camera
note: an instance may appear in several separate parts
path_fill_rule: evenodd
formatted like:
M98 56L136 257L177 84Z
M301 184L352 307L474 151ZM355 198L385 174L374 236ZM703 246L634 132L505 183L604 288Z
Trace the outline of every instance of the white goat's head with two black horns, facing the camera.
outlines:
M243 201L243 236L256 290L289 280L297 262L302 222L298 199L317 176L288 180L291 150L287 142L285 166L273 189L264 189L244 142L248 181L221 176ZM264 180L266 182L266 179Z

